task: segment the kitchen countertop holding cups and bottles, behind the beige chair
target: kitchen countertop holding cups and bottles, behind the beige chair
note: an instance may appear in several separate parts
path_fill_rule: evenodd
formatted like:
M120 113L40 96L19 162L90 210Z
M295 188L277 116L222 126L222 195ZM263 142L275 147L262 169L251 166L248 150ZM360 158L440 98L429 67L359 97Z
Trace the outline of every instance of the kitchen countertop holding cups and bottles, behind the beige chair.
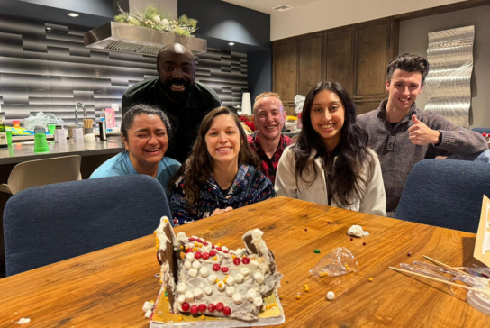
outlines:
M124 149L121 137L108 137L107 141L55 143L48 141L50 152L34 153L34 141L18 142L0 149L0 165L21 163L33 159L80 155L117 154Z

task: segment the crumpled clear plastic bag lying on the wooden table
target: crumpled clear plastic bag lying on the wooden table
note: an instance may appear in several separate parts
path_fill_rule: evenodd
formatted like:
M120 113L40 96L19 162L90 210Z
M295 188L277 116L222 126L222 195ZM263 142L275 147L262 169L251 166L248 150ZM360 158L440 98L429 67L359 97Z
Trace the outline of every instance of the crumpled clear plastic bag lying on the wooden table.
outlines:
M310 270L313 276L326 278L343 276L358 268L354 255L345 247L333 249Z

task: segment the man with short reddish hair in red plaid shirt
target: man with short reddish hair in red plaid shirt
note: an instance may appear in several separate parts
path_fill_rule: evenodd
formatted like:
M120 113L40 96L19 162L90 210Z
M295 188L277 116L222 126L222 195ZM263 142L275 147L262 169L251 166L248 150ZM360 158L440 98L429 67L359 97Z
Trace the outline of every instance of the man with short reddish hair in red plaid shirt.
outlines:
M257 96L253 114L257 131L247 137L249 146L259 155L260 171L274 184L277 163L285 148L295 140L281 132L286 123L286 112L276 93L264 92Z

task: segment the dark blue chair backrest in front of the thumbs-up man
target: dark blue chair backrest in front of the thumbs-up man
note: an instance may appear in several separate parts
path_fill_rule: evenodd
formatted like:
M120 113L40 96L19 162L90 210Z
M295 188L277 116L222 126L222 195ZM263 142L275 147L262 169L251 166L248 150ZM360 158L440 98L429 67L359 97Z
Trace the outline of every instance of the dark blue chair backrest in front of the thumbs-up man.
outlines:
M490 164L424 159L410 171L395 217L476 233L484 195L490 196Z

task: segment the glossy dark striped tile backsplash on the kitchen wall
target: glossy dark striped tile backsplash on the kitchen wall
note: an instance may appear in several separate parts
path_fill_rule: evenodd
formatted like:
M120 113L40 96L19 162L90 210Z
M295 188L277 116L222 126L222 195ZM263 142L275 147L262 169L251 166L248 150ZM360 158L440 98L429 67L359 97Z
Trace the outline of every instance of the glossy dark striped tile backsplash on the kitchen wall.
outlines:
M77 27L0 15L0 105L5 124L32 113L75 123L75 104L87 117L118 104L134 83L157 77L156 58L89 50ZM240 105L247 87L247 54L208 49L196 56L195 80L218 93L222 105ZM79 110L79 109L78 109ZM83 114L78 114L79 123ZM119 121L121 111L116 112Z

